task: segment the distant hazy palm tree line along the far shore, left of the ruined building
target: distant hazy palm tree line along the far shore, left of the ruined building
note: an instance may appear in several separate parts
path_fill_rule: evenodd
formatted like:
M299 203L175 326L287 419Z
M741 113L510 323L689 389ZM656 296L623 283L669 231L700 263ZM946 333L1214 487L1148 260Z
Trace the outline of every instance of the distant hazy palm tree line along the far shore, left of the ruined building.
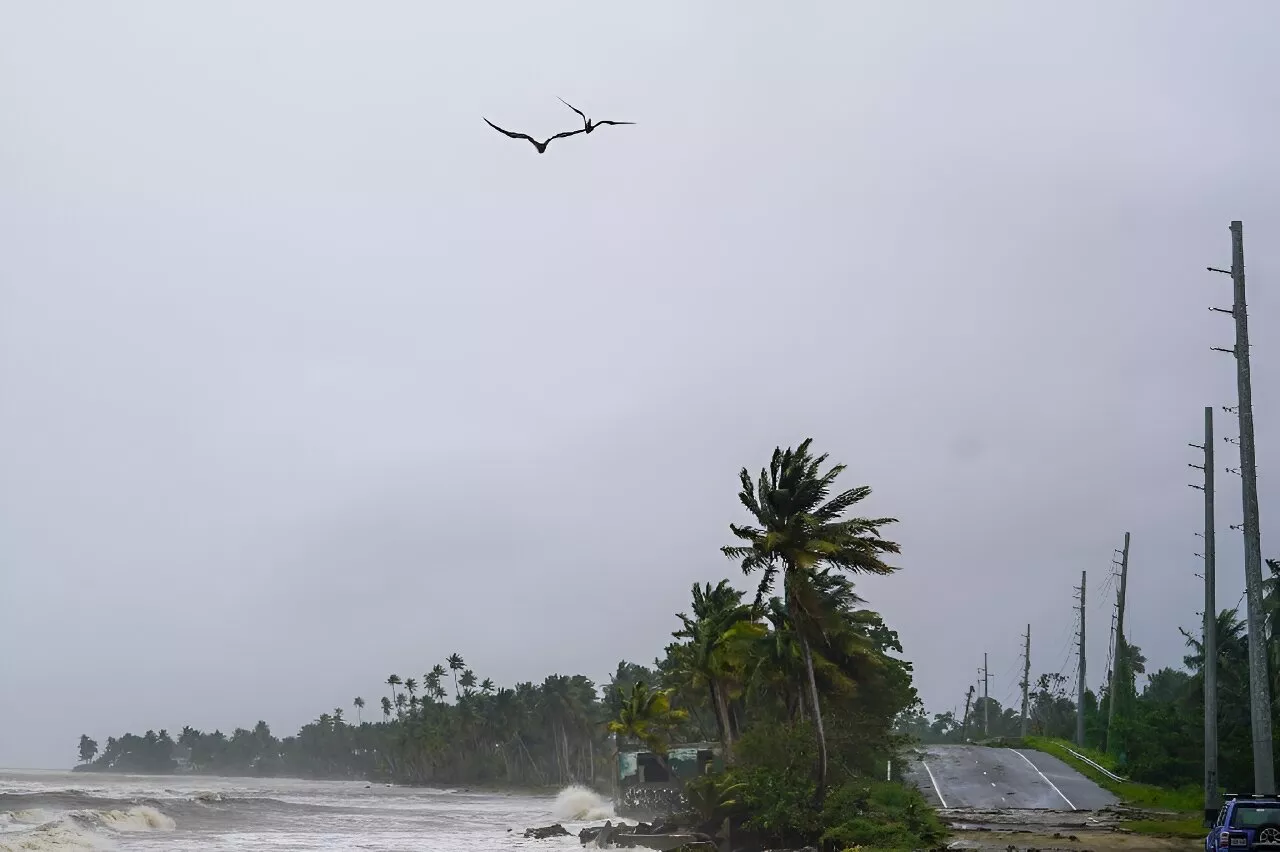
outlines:
M445 668L448 667L448 668ZM620 664L627 672L628 664ZM590 783L611 753L608 705L582 675L553 674L541 683L498 688L479 681L461 655L429 668L421 679L392 674L380 710L352 701L323 713L291 737L265 722L252 729L206 733L183 728L108 738L101 752L81 738L84 768L223 775L370 778L408 784L500 782L521 785Z

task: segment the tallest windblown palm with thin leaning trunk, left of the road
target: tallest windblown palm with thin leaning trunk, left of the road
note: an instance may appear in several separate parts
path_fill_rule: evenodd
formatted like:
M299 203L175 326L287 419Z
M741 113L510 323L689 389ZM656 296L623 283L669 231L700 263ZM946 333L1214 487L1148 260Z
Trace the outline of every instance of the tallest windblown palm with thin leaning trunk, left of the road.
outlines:
M829 496L845 466L835 464L823 472L827 454L812 455L812 439L805 439L795 449L774 449L769 467L760 471L756 484L742 468L739 475L742 487L737 496L751 513L755 526L731 523L730 531L745 544L721 550L741 564L742 573L763 572L756 604L773 590L778 573L782 573L782 600L787 615L799 628L796 633L809 682L809 704L818 742L814 775L820 802L827 785L827 737L822 725L809 629L801 627L822 620L822 601L813 578L823 568L892 573L896 568L884 563L882 555L899 553L899 545L879 536L881 527L895 523L896 518L844 517L872 490L861 485Z

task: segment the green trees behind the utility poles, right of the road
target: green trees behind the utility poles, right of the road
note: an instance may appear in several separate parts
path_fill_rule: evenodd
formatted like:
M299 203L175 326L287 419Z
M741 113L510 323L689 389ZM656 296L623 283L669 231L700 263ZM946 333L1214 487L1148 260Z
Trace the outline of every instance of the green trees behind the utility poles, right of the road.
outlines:
M1280 560L1268 559L1270 576L1263 582L1263 636L1270 660L1272 705L1280 696ZM1147 674L1142 649L1119 641L1115 659L1119 687L1114 728L1108 730L1111 696L1103 687L1084 695L1085 746L1110 752L1134 780L1164 787L1203 783L1204 759L1204 646L1203 629L1180 628L1187 652L1183 665ZM1216 619L1219 777L1230 792L1253 789L1252 727L1249 720L1249 660L1245 623L1236 608ZM1110 678L1108 678L1110 681ZM1075 739L1075 695L1069 678L1042 675L1032 692L1029 733ZM961 714L964 715L964 714ZM1280 710L1272 725L1280 725ZM989 728L984 732L984 719ZM915 707L900 720L904 732L924 742L979 741L983 737L1016 737L1021 707L1001 707L978 698L968 718L938 713L931 718ZM1280 761L1280 751L1276 753Z

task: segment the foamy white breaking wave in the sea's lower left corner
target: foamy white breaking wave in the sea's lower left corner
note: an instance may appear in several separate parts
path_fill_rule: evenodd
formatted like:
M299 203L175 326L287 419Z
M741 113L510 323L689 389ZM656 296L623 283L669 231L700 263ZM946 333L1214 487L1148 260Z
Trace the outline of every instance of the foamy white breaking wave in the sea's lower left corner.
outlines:
M40 809L6 811L0 821L0 852L69 852L104 849L113 835L172 832L174 821L154 807L76 810L61 815ZM15 830L18 829L18 830Z

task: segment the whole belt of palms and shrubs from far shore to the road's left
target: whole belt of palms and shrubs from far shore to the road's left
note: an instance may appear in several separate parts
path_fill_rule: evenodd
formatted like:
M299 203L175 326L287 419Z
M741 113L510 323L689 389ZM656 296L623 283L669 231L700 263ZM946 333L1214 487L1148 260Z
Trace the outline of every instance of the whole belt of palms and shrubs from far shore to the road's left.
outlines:
M844 848L928 844L938 823L914 789L877 780L908 738L895 733L918 698L897 633L864 606L850 574L888 574L899 553L881 530L893 518L846 513L867 486L833 491L844 466L810 441L774 450L739 500L748 523L730 525L722 549L759 582L694 585L689 611L653 665L620 663L603 693L582 675L499 688L451 655L422 677L385 679L380 713L352 701L278 739L252 729L183 728L81 738L84 769L361 777L412 784L602 783L616 748L718 741L726 771L696 779L686 801L707 819L730 817L762 842ZM188 751L189 750L189 751ZM602 784L603 785L603 784ZM890 843L891 842L891 843Z

